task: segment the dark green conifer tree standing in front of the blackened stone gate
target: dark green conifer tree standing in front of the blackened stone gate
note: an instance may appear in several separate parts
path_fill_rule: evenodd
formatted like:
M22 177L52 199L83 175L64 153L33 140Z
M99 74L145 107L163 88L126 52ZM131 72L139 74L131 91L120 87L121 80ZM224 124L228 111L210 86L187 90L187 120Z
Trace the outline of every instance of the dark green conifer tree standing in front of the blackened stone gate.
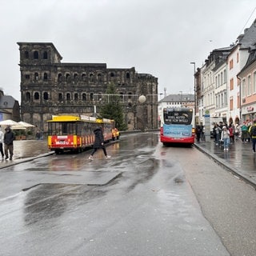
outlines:
M118 95L114 82L110 82L107 86L106 95L103 99L103 104L99 110L101 118L114 119L118 130L126 130L127 126L123 120L122 105L119 104L120 96Z

